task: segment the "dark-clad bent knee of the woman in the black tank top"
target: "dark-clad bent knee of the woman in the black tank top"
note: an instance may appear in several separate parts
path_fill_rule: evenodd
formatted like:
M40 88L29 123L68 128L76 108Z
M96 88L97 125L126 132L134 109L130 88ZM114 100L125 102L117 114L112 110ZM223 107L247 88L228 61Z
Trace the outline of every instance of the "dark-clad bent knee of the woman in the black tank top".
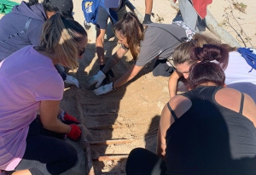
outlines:
M164 175L166 170L166 162L160 156L143 148L131 150L125 167L127 175Z

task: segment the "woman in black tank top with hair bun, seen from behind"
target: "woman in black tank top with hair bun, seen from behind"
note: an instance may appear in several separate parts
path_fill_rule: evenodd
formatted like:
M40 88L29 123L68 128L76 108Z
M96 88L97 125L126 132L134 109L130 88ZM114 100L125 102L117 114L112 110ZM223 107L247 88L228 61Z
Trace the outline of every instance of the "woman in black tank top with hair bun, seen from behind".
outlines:
M162 110L156 155L134 149L126 174L256 174L256 106L246 93L224 88L224 71L212 62L226 54L204 45L191 52L189 92Z

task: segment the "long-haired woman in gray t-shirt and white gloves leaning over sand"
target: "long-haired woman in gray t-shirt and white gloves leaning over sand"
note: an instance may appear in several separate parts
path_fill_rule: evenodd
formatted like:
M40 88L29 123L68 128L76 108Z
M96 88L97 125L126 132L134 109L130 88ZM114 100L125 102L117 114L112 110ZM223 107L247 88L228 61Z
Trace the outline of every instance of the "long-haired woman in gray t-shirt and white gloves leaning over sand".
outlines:
M172 74L172 65L166 63L166 60L172 56L173 50L183 41L189 40L189 37L195 33L182 22L176 24L148 24L143 25L137 19L135 14L126 13L122 20L113 25L113 31L121 44L121 47L115 54L108 59L107 64L102 71L98 71L90 79L89 86L96 86L94 93L101 95L109 93L130 81L143 66L156 59L154 65L154 76L170 76ZM104 86L102 81L106 78L108 71L121 59L130 49L135 63L123 76L115 82Z

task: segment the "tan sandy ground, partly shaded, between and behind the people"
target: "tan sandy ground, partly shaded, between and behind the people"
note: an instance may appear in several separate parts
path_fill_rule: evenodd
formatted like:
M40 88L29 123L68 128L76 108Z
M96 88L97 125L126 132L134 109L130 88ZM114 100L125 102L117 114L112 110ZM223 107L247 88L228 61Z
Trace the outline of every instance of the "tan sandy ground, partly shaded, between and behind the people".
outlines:
M20 2L16 0L17 2ZM74 1L74 19L83 25L84 15L81 10L81 0ZM214 0L208 7L214 18L219 24L223 24L225 16L230 14L230 8L233 7L230 1ZM131 0L131 3L144 14L144 0ZM240 2L239 2L240 3ZM248 47L256 46L256 25L253 18L256 17L256 5L254 0L243 0L247 5L246 14L233 10L236 20L230 17L230 25L236 31L242 32L242 37L249 38L246 42ZM161 23L172 23L172 19L177 11L171 7L168 0L154 0L153 7L154 18L152 20ZM3 16L3 15L2 15ZM0 15L1 17L1 15ZM230 25L223 25L224 29L237 38L236 31ZM205 31L209 35L210 31ZM246 36L246 35L247 36ZM169 100L167 88L168 78L154 77L152 70L153 63L139 73L134 80L126 83L125 86L118 88L117 91L102 96L95 96L91 89L87 88L86 83L91 76L96 74L99 65L96 61L95 53L95 30L92 26L88 31L89 43L84 54L84 59L80 60L79 69L70 72L79 80L80 88L74 86L66 87L64 97L61 100L61 107L68 113L76 116L81 122L83 135L79 143L73 144L79 151L79 162L64 174L87 174L86 160L84 156L84 140L104 141L110 139L132 139L130 144L109 144L109 145L91 145L92 158L97 159L102 155L126 155L136 147L155 150L156 133L160 120L160 112L163 106ZM241 45L242 42L237 39ZM106 37L105 50L106 55L110 56L114 50L119 48L113 35ZM123 75L132 64L131 54L126 54L124 59L113 68L115 77ZM125 158L115 161L94 161L93 167L96 174L125 174Z

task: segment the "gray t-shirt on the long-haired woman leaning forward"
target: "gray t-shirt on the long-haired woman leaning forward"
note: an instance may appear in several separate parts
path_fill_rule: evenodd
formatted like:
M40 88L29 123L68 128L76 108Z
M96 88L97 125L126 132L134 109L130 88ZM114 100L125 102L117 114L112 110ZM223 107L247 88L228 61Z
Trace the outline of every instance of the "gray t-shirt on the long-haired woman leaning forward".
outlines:
M136 65L144 66L156 57L159 57L158 59L170 58L174 49L180 44L172 35L178 39L187 37L185 30L178 25L148 24L144 40L141 41L141 50Z

